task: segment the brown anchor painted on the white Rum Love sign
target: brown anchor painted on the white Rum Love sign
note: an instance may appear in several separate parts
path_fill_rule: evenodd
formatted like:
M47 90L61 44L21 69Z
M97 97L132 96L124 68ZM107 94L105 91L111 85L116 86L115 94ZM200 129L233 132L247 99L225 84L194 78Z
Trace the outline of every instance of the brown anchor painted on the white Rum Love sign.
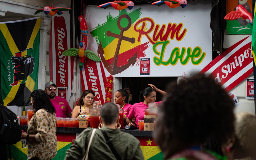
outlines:
M128 20L128 25L123 28L120 24L121 20L123 18L126 18ZM137 52L130 58L128 59L128 63L123 65L123 66L117 66L116 63L117 63L117 60L118 60L118 55L119 55L119 51L120 51L120 46L121 46L121 42L122 40L124 41L128 41L128 42L131 42L131 43L135 43L135 38L129 38L129 37L126 37L126 36L123 36L124 34L124 31L127 31L130 27L131 27L131 24L132 24L132 20L130 18L130 16L128 15L121 15L119 18L118 18L118 28L120 29L120 35L119 34L115 34L115 33L112 33L111 31L107 31L106 35L107 36L111 36L111 37L115 37L115 38L118 38L118 44L117 44L117 47L116 47L116 50L115 50L115 55L114 55L114 58L113 58L113 61L112 63L108 63L106 61L106 59L104 58L103 54L104 54L104 50L102 48L102 45L101 45L101 42L99 44L99 47L98 47L98 53L100 54L100 58L102 60L102 63L104 64L106 70L111 74L111 75L114 75L114 74L118 74L118 73L121 73L122 71L126 70L130 65L134 65L135 62L136 62L136 59L137 59Z

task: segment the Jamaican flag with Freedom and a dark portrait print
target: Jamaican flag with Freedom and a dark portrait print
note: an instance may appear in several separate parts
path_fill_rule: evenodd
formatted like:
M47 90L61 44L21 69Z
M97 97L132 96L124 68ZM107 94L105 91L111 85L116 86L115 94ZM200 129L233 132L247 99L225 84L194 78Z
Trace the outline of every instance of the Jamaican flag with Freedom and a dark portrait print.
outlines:
M30 93L37 89L40 22L40 18L0 22L0 94L4 105L28 105Z

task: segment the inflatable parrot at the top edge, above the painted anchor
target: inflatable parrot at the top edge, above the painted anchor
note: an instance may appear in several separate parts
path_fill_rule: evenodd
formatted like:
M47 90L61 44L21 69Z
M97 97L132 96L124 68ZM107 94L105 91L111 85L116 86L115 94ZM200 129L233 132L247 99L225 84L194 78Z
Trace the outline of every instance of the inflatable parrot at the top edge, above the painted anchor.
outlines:
M108 8L108 7L114 7L116 10L122 10L125 8L132 9L134 6L134 3L132 1L114 1L114 2L108 2L99 5L100 8Z

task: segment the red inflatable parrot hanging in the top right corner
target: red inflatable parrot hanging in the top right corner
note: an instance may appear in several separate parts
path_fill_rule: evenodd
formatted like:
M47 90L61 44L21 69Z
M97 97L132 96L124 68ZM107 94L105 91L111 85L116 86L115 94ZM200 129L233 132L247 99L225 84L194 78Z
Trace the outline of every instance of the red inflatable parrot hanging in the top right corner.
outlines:
M236 10L229 12L224 19L235 20L238 18L248 19L252 25L252 13L248 12L241 4L237 5Z

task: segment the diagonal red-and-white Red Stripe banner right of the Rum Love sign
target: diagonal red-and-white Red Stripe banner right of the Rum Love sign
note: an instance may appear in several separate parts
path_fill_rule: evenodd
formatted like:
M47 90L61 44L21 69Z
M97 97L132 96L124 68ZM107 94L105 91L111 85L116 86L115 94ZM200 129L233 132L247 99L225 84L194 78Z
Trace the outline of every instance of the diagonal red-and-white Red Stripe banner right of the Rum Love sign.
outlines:
M253 72L252 36L237 42L211 61L200 73L212 75L226 91L230 91Z

